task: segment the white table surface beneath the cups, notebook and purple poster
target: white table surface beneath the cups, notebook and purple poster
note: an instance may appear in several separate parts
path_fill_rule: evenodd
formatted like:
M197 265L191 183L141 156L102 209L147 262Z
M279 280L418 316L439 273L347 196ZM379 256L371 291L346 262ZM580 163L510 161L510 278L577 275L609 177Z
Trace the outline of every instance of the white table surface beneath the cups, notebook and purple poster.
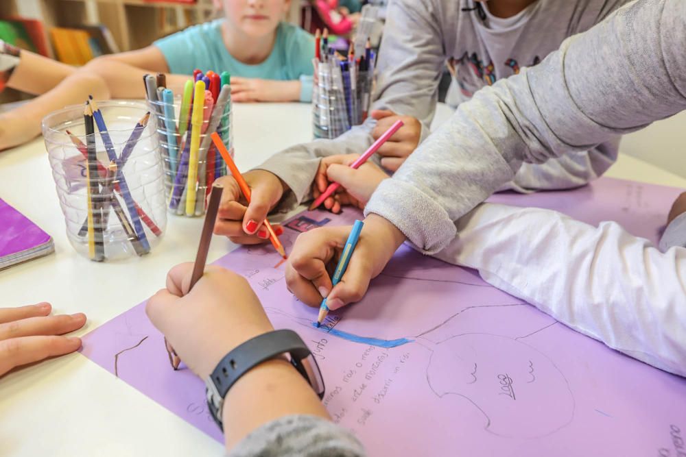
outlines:
M440 106L438 120L450 110ZM241 170L311 138L307 104L235 105ZM686 187L686 179L629 156L609 176ZM27 183L31 183L28 185ZM150 256L96 264L64 234L43 139L0 153L0 196L54 237L56 254L0 272L0 306L50 301L56 312L85 312L85 334L150 297L167 270L193 260L202 219L169 217ZM209 260L233 248L215 238ZM112 284L111 278L117 278ZM110 284L110 292L106 287ZM80 354L49 360L0 379L0 455L219 456L222 445Z

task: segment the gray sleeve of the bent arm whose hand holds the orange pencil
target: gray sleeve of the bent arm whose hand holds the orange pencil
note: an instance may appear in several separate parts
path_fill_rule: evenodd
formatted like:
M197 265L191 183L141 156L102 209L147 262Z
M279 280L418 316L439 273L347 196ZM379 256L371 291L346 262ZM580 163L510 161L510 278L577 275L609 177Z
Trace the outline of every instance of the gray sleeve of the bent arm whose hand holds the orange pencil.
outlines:
M445 64L438 14L433 3L426 0L390 3L375 72L378 80L371 109L416 117L422 123L420 142L429 136L438 79ZM375 124L374 119L367 119L338 138L289 147L258 166L279 176L292 190L281 201L280 209L309 198L322 157L363 153L374 142L371 132Z

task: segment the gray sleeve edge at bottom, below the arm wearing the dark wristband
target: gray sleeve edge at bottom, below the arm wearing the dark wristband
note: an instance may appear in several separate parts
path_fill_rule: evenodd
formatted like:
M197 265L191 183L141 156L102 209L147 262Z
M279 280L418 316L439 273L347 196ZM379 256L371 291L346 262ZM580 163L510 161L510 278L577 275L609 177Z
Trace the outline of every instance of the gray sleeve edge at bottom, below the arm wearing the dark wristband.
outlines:
M320 417L298 415L263 425L238 443L228 457L364 457L348 430Z

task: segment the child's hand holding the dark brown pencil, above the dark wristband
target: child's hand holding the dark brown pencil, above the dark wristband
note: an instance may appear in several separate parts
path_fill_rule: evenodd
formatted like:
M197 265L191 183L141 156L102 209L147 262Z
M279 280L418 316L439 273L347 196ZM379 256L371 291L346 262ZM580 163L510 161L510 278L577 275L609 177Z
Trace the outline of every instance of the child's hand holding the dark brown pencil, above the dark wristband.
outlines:
M172 268L167 288L147 301L145 312L187 367L204 379L231 349L274 328L244 277L208 265L189 292L192 271L190 262Z

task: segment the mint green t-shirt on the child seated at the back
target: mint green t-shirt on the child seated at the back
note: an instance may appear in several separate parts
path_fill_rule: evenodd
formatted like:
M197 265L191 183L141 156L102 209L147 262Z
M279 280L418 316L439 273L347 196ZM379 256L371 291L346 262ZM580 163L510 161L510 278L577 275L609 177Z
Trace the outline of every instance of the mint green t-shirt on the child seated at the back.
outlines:
M312 98L312 59L314 37L292 24L282 22L276 29L272 53L256 65L239 62L228 53L222 38L222 23L226 19L193 25L181 32L154 42L162 51L169 71L192 75L194 69L215 73L228 71L232 76L279 79L300 79L300 101Z

